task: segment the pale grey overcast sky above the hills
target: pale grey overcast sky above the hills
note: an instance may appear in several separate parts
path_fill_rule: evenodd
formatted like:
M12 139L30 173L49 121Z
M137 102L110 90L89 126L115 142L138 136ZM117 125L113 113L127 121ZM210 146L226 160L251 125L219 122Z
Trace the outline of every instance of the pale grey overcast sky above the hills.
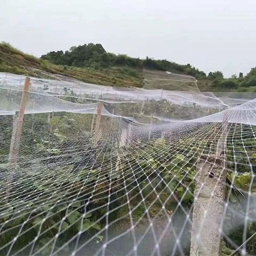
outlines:
M256 66L256 0L2 0L0 41L38 57L99 42L231 76Z

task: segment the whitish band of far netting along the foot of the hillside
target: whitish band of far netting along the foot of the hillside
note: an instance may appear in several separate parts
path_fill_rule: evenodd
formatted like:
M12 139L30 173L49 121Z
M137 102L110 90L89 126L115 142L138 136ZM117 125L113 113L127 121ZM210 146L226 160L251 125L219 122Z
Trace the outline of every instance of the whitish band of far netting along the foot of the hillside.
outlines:
M181 75L177 75L181 76ZM24 76L0 73L0 88L23 90ZM60 79L58 77L58 79ZM31 78L31 92L38 94L49 94L51 96L69 96L82 99L97 99L105 102L142 102L145 100L167 100L172 104L193 106L199 105L203 108L228 108L245 103L256 97L255 93L218 93L118 88L106 87L96 84L84 83L70 78L67 80L51 80L43 78ZM190 77L189 79L193 79Z

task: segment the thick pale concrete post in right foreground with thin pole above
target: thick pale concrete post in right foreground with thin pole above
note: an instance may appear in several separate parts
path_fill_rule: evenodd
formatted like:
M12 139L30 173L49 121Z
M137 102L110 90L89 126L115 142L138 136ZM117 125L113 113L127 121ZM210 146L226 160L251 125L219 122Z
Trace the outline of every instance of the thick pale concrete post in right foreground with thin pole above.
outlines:
M225 149L227 124L228 113L226 112L216 155L202 155L198 161L190 256L222 255L221 225L226 196ZM223 152L224 156L222 156Z

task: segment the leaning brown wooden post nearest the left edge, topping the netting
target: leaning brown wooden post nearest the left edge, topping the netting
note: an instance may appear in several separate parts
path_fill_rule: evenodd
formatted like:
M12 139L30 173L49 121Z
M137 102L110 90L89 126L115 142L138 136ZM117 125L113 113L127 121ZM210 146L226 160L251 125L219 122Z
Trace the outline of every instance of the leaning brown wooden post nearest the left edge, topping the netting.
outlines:
M29 86L30 86L30 78L26 77L22 100L19 106L19 113L18 113L17 120L15 122L15 125L13 127L14 130L13 130L12 139L11 139L12 144L10 147L10 154L9 154L9 163L10 163L11 170L14 170L17 165L20 135L22 133L23 119L24 119L24 113L25 113L26 103L28 99Z

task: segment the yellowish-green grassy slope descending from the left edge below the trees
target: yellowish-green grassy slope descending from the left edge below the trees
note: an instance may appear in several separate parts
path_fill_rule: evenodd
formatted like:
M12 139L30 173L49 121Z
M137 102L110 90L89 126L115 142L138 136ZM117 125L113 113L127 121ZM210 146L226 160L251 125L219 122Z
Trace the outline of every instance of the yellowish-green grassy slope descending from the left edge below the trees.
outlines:
M50 73L105 86L142 87L143 84L143 78L140 72L131 75L129 74L129 70L127 71L125 68L96 70L93 68L55 65L48 60L25 54L5 42L0 44L0 72L52 78L47 75L47 73Z

